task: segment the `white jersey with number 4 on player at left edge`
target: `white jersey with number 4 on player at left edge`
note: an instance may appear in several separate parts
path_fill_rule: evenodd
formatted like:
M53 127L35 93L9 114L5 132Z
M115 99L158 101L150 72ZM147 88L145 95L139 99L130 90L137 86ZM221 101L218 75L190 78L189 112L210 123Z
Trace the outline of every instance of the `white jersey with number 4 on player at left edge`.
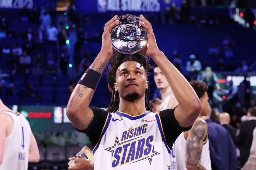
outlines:
M20 113L4 111L13 121L13 130L5 140L3 163L0 170L27 170L31 128L29 122Z

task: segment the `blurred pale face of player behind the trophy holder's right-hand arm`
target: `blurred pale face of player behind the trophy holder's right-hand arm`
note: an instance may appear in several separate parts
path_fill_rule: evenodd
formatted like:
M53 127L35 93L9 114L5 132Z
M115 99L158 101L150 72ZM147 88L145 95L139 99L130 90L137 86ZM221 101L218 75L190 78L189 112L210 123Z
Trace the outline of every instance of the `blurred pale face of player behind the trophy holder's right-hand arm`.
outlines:
M159 67L154 68L154 80L156 87L160 90L169 87L169 83L167 82Z

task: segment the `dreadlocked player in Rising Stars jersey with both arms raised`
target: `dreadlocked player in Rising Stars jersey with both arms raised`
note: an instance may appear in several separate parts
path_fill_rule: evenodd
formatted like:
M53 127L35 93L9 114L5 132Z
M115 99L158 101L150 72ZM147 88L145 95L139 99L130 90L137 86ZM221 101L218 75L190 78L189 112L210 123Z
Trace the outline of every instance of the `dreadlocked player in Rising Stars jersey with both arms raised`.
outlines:
M119 23L114 16L105 24L101 51L78 81L66 114L74 127L90 139L94 169L170 169L170 148L183 130L188 130L202 106L185 77L156 44L151 24L141 15L139 24L148 33L142 53L113 53L110 31ZM148 74L151 57L166 76L179 105L151 111ZM108 111L89 108L101 73L110 61L114 91ZM182 84L182 86L180 85Z

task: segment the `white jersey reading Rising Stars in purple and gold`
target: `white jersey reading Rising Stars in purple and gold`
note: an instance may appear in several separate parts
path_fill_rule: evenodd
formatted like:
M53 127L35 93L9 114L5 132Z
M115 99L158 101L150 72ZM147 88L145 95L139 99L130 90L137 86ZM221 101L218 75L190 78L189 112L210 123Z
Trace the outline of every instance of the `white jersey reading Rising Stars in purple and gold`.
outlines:
M159 114L110 113L93 149L94 169L170 169Z

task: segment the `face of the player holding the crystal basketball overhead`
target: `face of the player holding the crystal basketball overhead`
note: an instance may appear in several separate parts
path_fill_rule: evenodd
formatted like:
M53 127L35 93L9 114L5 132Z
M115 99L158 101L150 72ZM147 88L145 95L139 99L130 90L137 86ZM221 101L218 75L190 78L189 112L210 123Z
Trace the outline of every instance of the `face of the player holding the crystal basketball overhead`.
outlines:
M120 97L128 101L144 97L148 89L145 69L135 61L123 62L117 69L114 87Z

